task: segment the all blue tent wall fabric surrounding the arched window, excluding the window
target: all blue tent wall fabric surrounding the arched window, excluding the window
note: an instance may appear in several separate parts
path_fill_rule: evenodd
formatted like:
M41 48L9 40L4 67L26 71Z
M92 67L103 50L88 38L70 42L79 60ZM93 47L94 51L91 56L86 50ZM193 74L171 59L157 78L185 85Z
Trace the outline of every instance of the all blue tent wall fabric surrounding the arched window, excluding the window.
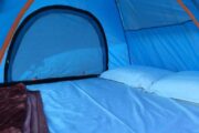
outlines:
M7 35L6 31L8 31L8 29L11 27L11 23L13 22L15 16L18 14L18 12L25 2L27 1L15 3L12 0L2 1L3 6L1 4L1 12L4 9L12 9L12 10L8 10L7 12L3 11L4 14L3 13L0 14L1 21L7 21L7 23L4 23L3 25L4 30L3 32L1 32L2 34L0 38L1 45ZM190 11L192 11L195 17L198 18L199 14L198 0L191 0L190 2L189 0L182 0L182 2L185 2L185 4L190 9ZM177 3L177 1L153 0L147 2L140 0L139 2L137 2L135 0L123 0L123 1L117 0L115 2L115 0L109 0L109 1L34 0L33 4L27 11L21 22L35 10L41 9L43 7L55 6L55 4L71 6L74 8L86 10L93 13L100 20L107 38L109 69L127 65L129 63L166 68L175 71L197 70L198 68L198 63L196 62L196 59L198 58L198 54L196 52L198 50L198 45L197 45L198 29L193 24L189 24L189 21L191 21L190 18L184 11L184 9ZM14 6L14 8L11 8L12 6ZM7 13L9 16L7 16ZM8 17L10 19L8 19ZM182 24L182 23L187 23L187 24ZM139 29L143 28L147 28L147 29L139 31ZM154 28L157 28L157 30ZM136 31L134 32L132 30L136 30ZM157 33L154 33L154 31ZM153 38L150 39L150 41L146 42L143 35L138 35L140 34L140 32L144 34L145 33L147 34L148 32L153 32L151 34L154 35L158 34L159 35L158 38L160 39L161 42L160 41L157 42L157 40L159 40L158 38ZM171 33L172 35L166 37L165 34L167 32L172 32ZM174 35L174 33L176 34ZM181 35L178 35L178 33ZM142 41L140 40L137 41L139 38L142 39ZM178 42L176 42L174 38L177 38ZM153 45L158 47L156 48L158 52L154 52L155 49L149 47L151 45L151 42ZM145 44L149 43L148 48L144 47L145 44ZM169 61L167 54L169 54L168 57L170 57L170 52L168 51L165 52L165 48L163 48L163 45L165 45L166 43L168 43L167 48L171 51L174 50L172 49L174 47L170 47L171 43L172 43L171 45L175 45L175 43L180 43L181 47L184 47L184 44L187 44L189 49L188 51L186 50L178 51L180 52L180 54L177 54L176 51L174 50L175 53L172 53L171 57L175 58L172 61ZM138 52L137 51L138 48L144 50L147 48L147 50L145 52ZM150 51L150 49L153 50ZM144 54L140 55L140 53ZM184 59L180 57L184 57ZM4 61L6 61L6 55L3 62L0 65L1 82L3 82ZM185 61L188 62L188 64L185 64Z

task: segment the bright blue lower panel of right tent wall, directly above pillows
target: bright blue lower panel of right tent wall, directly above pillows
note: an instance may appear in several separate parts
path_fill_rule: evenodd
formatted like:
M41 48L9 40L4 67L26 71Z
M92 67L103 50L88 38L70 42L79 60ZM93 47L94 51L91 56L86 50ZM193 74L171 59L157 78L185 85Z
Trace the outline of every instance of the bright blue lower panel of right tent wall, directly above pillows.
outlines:
M133 64L199 70L199 29L192 22L128 31L126 37Z

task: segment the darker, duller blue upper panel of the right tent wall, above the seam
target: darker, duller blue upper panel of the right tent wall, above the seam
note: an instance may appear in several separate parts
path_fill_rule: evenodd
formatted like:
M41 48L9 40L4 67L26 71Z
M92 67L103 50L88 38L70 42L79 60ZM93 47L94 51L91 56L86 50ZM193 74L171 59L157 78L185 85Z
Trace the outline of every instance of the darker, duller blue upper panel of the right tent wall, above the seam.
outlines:
M177 0L117 0L117 3L125 30L161 27L190 20Z

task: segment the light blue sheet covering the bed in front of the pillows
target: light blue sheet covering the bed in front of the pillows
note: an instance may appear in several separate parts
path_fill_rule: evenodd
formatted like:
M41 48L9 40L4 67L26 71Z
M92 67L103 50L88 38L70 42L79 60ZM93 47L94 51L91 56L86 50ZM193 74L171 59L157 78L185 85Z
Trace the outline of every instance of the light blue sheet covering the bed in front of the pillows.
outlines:
M199 133L199 105L103 79L28 86L40 90L51 133Z

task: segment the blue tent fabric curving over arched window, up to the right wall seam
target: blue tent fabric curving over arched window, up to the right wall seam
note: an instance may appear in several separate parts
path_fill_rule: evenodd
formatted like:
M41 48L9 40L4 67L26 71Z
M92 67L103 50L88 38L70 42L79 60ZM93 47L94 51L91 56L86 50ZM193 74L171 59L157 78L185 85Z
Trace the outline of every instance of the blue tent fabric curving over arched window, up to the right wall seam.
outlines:
M115 0L34 0L25 17L36 9L54 4L72 6L93 13L106 34L109 69L129 64L127 44Z

